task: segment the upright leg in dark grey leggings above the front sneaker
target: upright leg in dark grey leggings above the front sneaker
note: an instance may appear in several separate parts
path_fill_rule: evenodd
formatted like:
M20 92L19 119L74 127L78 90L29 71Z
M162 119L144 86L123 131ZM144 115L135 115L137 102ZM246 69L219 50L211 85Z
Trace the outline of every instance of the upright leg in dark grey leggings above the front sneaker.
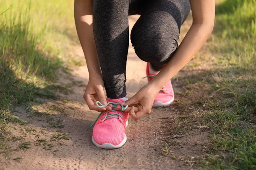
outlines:
M107 96L126 96L129 0L93 0L93 33Z

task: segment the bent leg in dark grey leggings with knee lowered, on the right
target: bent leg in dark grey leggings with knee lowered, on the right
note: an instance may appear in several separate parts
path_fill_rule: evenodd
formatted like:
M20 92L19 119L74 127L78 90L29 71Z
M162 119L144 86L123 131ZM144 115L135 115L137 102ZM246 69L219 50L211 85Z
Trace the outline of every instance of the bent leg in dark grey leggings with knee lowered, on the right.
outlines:
M138 57L160 70L178 47L180 26L190 11L189 0L148 0L131 32Z

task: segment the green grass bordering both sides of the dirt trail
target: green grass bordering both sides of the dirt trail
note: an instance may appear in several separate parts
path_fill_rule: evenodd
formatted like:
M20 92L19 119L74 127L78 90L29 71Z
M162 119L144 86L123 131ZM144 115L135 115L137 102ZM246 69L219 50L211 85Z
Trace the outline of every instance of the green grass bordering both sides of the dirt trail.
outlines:
M179 78L184 92L177 94L179 101L175 107L187 115L177 115L169 135L186 135L193 130L210 134L205 156L190 160L191 166L197 164L195 168L253 170L256 169L256 0L218 1L212 36L183 69L188 74ZM75 31L73 11L67 10L72 3L0 1L0 153L5 153L6 158L12 150L6 144L8 140L20 142L20 149L30 149L32 142L22 141L25 132L35 132L32 127L20 127L24 137L11 136L9 124L26 124L12 115L15 106L36 102L38 96L56 99L56 91L67 94L69 86L54 84L58 71L67 72L65 65L70 62L81 65L68 56L69 46L77 43L72 32ZM68 102L61 101L64 105ZM57 105L52 105L49 111L64 113ZM38 117L44 115L50 127L64 127L61 119L55 120L44 112L33 113ZM57 132L50 142L68 139L67 133ZM164 142L161 153L179 159L169 149L181 148L182 144L171 139ZM53 147L46 139L37 139L34 144L46 150Z

